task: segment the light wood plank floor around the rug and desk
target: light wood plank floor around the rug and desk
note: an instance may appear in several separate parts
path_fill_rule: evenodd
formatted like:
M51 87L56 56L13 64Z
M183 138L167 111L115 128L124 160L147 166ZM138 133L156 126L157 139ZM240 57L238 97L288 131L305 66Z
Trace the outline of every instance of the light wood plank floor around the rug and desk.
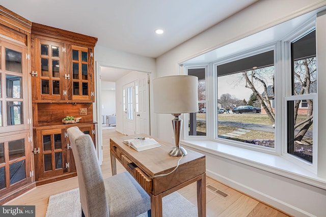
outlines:
M103 177L111 176L111 163L110 163L110 137L118 137L122 134L117 133L115 130L103 130L103 165L101 166ZM117 163L117 172L125 171L125 169ZM251 197L248 197L240 192L227 187L226 185L211 179L206 178L206 182L213 185L213 187L227 193L227 199L222 199L220 196L206 190L206 213L210 217L214 216L289 216L280 212L266 204L263 204ZM45 216L48 198L50 195L55 195L64 191L78 188L77 177L57 181L41 185L34 190L10 201L6 205L35 205L36 216ZM190 184L187 187L178 191L187 200L197 205L196 196L196 183Z

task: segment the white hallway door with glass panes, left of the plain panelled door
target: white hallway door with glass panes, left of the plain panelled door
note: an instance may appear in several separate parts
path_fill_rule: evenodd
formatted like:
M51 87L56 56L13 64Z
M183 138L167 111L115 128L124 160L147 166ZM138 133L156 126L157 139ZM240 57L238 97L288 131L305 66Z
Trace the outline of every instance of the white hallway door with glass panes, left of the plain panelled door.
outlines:
M125 85L124 92L124 118L126 135L135 134L135 82Z

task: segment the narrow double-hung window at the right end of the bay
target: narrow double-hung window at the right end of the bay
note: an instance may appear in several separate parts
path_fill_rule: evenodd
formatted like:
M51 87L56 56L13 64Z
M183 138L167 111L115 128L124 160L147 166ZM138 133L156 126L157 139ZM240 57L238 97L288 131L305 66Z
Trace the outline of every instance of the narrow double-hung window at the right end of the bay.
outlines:
M291 56L291 92L287 111L286 152L316 171L317 162L317 57L313 28L285 43ZM315 151L316 150L316 151Z

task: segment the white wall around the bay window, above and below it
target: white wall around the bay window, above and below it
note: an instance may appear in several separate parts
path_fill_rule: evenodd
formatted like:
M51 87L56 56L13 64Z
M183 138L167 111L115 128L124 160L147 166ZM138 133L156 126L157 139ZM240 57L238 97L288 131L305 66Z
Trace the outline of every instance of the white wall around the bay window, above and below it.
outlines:
M157 77L179 74L178 63L305 14L325 4L325 1L317 0L259 1L158 57L156 59ZM318 83L324 82L318 80ZM159 114L156 118L156 136L160 139L172 138L171 115ZM230 187L295 216L325 216L325 190L207 152L203 153L206 154L207 173Z

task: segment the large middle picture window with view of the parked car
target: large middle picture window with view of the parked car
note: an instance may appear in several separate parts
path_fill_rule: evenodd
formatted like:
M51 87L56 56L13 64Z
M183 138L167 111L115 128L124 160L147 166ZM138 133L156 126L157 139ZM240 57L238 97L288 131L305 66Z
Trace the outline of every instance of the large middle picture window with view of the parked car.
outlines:
M259 48L214 64L216 140L251 148L275 148L275 49Z

